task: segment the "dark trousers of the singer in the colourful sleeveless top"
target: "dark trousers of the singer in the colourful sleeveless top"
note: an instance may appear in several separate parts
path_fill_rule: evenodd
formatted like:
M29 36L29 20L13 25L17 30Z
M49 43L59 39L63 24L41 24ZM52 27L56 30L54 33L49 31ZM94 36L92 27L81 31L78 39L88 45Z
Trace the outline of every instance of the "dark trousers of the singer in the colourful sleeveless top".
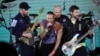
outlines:
M48 56L53 50L54 44L42 44L41 46L41 56Z

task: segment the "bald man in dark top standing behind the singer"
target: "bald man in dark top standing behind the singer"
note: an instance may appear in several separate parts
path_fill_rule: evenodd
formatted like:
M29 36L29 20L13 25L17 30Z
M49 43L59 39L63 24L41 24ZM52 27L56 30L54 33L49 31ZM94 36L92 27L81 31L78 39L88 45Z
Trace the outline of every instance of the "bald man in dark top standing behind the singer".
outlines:
M55 21L59 22L62 26L63 26L63 35L62 35L62 39L61 39L61 43L60 43L60 47L58 49L58 52L57 52L57 55L58 56L62 56L62 53L61 53L61 46L62 44L64 43L64 38L65 35L66 35L66 29L65 29L65 26L66 26L66 22L69 20L69 18L66 16L66 15L63 15L62 14L62 8L60 5L56 5L54 7L54 14L55 14Z

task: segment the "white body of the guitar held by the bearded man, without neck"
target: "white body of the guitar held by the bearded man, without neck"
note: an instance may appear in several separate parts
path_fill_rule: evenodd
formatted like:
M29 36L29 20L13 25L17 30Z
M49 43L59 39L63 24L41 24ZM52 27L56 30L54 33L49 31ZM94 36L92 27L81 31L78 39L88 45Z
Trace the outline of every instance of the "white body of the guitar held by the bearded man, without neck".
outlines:
M62 52L65 55L72 56L74 54L75 50L77 49L75 41L77 40L78 36L79 34L74 35L74 37L70 41L67 42L71 44L71 47L68 47L67 45L62 46Z

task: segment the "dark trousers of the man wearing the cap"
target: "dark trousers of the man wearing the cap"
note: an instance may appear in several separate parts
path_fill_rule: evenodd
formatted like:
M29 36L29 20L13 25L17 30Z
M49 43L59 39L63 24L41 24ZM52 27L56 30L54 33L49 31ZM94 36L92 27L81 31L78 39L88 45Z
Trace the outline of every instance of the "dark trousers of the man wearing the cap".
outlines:
M21 56L34 56L34 47L27 46L24 43L18 43L19 53Z

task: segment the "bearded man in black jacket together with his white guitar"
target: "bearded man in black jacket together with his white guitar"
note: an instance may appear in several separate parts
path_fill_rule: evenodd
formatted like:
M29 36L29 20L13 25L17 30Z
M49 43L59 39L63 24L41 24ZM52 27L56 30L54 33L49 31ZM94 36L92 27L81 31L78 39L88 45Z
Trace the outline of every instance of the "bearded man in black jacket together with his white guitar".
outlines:
M69 11L71 18L66 22L66 38L62 52L65 56L88 56L85 37L92 38L93 30L89 30L88 24L80 18L78 6L72 5Z

